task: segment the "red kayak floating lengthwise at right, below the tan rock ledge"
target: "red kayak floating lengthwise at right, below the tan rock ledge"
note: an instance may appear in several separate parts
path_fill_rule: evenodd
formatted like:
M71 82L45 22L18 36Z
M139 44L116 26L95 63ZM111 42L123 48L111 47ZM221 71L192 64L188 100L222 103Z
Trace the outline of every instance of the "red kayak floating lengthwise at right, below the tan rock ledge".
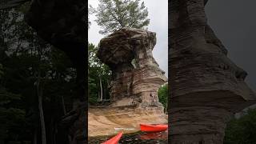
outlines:
M167 130L168 125L148 125L148 124L140 124L141 131L146 132L159 132Z

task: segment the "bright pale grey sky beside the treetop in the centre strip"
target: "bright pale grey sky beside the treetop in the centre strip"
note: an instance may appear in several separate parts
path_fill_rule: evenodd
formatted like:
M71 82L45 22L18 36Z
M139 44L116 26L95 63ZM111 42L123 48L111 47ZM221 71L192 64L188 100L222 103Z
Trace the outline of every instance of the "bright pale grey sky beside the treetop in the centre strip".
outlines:
M142 0L143 1L143 0ZM150 25L148 30L156 32L157 44L153 50L154 59L158 62L160 68L166 71L168 76L168 1L167 0L144 0L145 6L149 11ZM88 4L96 8L98 0L89 0ZM98 45L102 34L98 34L100 27L94 22L95 16L90 15L90 30L88 31L89 42Z

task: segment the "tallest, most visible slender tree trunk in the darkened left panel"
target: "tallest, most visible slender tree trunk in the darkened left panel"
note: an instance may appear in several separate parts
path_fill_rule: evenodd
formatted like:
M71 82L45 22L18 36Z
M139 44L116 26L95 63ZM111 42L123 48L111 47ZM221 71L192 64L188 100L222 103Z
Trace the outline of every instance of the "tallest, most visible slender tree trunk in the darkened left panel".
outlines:
M41 134L42 134L42 144L46 144L46 126L45 119L43 115L42 107L42 83L41 83L41 71L38 71L38 82L37 82L37 93L38 93L38 109L41 123Z

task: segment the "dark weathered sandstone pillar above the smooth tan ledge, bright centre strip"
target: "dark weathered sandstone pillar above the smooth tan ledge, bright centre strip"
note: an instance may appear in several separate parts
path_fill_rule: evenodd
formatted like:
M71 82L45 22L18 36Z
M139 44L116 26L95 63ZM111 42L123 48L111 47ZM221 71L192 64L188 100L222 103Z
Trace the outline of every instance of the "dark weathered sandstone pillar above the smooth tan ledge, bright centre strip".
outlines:
M113 72L112 106L161 106L158 89L166 77L153 58L155 44L155 33L131 28L102 38L97 56Z

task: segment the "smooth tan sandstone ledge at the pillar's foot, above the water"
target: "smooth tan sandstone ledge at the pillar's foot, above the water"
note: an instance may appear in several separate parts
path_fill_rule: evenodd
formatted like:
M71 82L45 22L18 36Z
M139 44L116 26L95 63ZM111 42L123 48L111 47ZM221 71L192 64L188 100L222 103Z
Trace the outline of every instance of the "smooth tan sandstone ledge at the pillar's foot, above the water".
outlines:
M134 106L89 108L88 137L114 135L119 130L124 134L140 130L140 123L167 123L161 107L136 109Z

